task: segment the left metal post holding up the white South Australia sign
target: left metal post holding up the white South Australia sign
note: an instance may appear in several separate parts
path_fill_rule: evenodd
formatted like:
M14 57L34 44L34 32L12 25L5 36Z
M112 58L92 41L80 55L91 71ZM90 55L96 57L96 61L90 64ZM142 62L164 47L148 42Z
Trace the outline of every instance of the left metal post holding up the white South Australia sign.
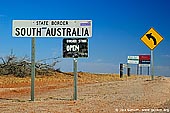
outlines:
M34 101L34 82L35 82L35 37L32 37L32 51L31 51L31 101Z

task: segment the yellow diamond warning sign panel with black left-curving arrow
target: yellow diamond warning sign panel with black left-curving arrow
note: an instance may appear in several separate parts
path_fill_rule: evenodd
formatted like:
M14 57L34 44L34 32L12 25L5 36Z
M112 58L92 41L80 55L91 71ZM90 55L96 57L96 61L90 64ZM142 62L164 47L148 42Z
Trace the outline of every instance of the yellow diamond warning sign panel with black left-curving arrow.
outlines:
M154 29L150 28L141 38L141 41L153 50L164 38Z

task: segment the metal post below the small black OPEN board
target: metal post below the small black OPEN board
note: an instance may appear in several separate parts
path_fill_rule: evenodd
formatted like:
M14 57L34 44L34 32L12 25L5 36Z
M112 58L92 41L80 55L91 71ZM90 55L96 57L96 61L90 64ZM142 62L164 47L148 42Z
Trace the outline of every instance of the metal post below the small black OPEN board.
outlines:
M73 65L74 65L74 95L73 95L73 99L77 100L77 58L73 59Z

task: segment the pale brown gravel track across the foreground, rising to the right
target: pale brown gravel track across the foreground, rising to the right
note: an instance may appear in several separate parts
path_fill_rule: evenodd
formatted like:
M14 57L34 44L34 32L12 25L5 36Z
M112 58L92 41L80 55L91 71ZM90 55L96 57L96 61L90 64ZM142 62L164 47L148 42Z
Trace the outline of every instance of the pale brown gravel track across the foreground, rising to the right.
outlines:
M7 89L5 89L7 90ZM170 112L170 79L155 77L82 84L78 100L73 87L38 92L35 102L28 95L0 98L1 113L167 113Z

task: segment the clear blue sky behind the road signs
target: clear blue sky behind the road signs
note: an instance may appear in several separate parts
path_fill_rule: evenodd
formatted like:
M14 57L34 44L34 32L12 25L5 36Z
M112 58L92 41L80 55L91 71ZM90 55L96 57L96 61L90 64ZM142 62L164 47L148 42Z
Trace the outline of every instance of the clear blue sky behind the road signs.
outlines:
M164 37L154 49L155 74L170 76L169 0L4 0L0 56L11 49L17 56L31 56L31 39L12 37L12 20L30 19L92 20L89 58L78 60L78 70L95 73L119 73L119 64L126 63L127 56L150 54L140 38L154 27ZM62 38L36 39L36 60L61 55ZM57 67L72 71L72 59L60 60Z

